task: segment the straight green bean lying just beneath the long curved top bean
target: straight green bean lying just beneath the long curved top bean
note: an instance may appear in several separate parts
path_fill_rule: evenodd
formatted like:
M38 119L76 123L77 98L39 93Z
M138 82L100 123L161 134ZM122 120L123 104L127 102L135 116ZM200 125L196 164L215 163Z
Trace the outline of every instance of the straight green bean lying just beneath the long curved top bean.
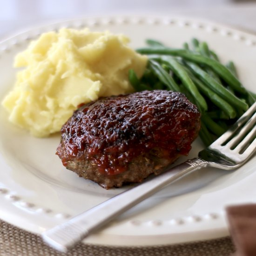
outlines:
M224 88L209 74L203 71L201 67L189 61L187 61L186 64L189 66L189 68L192 70L194 74L200 77L200 80L202 80L206 85L208 85L209 88L211 88L216 94L218 94L224 100L229 102L229 104L231 104L232 106L236 106L237 108L241 108L245 111L248 109L247 103L237 98L234 94L230 93L229 90Z

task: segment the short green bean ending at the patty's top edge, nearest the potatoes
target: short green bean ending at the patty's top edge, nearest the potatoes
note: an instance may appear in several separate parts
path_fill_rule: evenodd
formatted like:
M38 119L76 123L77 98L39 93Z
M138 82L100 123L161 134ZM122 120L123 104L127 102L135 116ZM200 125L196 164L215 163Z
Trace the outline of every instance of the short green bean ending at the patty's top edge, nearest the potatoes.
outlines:
M160 81L164 83L170 90L178 92L179 86L174 79L161 67L161 65L153 60L149 60L149 67L152 68Z

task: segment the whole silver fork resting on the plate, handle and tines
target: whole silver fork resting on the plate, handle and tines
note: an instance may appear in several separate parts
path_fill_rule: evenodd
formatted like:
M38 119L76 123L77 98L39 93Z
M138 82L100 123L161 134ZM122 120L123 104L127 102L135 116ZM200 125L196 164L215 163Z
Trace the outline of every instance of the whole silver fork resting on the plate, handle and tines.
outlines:
M183 162L166 172L129 189L92 209L42 233L43 240L60 251L101 228L116 216L153 195L164 186L202 167L233 170L256 151L256 103L219 139L199 152L198 158Z

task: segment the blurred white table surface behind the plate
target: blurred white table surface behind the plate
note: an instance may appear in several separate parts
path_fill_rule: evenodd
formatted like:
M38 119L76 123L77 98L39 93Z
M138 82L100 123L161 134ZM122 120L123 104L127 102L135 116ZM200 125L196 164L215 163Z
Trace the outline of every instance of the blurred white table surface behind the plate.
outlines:
M182 15L256 32L256 0L0 0L0 38L59 20L101 15Z

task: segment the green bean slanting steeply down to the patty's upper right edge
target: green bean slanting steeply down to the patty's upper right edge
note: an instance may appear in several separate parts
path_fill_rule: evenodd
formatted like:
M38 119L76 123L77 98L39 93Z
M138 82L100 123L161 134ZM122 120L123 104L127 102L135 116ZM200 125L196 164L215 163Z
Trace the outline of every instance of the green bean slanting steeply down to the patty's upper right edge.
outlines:
M166 57L164 60L168 63L168 65L170 65L171 70L180 78L183 85L192 94L193 98L198 102L202 111L206 111L208 109L208 106L205 99L199 93L194 82L191 80L189 74L182 67L182 65L173 57Z

